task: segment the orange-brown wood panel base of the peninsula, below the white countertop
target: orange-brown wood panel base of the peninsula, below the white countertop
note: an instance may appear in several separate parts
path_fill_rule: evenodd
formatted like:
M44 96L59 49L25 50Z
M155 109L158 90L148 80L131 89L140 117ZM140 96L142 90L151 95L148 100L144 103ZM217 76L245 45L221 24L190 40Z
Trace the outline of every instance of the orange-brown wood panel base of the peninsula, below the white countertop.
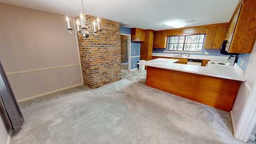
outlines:
M230 112L241 82L148 66L146 84Z

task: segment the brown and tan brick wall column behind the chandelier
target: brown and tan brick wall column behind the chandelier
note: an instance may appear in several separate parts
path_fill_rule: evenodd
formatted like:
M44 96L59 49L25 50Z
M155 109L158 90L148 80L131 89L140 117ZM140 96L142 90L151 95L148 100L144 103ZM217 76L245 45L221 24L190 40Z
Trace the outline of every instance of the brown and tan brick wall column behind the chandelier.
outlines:
M87 23L97 20L86 16ZM100 19L100 34L78 36L84 84L92 89L121 79L120 22Z

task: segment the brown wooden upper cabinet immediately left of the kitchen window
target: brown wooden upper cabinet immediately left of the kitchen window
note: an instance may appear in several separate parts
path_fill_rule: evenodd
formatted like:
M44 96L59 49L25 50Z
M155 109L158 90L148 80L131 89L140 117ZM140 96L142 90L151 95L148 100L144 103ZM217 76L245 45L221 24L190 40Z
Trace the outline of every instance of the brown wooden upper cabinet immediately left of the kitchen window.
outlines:
M166 32L154 32L153 48L166 48Z

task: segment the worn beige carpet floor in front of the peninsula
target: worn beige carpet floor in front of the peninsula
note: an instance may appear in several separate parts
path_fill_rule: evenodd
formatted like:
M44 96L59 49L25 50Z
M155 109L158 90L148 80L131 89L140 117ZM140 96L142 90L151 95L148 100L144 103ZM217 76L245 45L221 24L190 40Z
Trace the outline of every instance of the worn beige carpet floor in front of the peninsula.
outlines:
M245 144L229 112L150 88L138 75L20 102L25 122L11 144Z

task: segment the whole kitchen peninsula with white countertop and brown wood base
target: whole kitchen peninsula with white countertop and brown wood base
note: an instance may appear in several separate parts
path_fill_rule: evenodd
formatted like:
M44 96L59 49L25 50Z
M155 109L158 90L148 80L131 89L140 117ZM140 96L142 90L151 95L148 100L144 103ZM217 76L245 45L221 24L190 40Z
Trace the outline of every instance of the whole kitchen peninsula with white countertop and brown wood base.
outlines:
M147 86L230 112L241 82L235 66L193 66L158 58L139 62L147 66Z

